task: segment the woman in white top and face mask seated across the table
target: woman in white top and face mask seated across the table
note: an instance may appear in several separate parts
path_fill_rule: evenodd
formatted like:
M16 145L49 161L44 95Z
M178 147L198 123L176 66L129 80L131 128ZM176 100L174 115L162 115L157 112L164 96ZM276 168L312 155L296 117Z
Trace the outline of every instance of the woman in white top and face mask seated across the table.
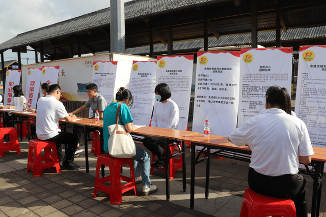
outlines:
M179 107L170 99L171 91L168 84L158 84L155 87L154 92L158 102L154 105L151 126L157 128L178 129ZM156 167L157 169L163 168L165 154L161 146L164 146L164 140L144 138L143 144L148 150L157 156L156 161L153 162L151 166Z

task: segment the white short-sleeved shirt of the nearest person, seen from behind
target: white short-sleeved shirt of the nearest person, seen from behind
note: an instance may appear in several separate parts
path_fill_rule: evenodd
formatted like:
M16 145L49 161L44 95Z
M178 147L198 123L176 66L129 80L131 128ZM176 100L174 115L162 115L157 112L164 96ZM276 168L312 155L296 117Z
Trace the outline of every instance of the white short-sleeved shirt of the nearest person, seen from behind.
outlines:
M235 129L229 139L252 150L250 167L257 172L280 176L296 174L297 156L314 154L305 123L282 109L266 109Z

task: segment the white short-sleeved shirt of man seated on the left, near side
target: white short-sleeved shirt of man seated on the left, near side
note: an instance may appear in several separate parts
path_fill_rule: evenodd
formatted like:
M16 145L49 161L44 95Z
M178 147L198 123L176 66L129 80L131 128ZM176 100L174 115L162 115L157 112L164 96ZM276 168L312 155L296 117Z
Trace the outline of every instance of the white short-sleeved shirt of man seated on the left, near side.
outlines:
M50 139L61 132L59 119L67 117L65 106L55 97L47 95L37 101L36 135L41 140Z

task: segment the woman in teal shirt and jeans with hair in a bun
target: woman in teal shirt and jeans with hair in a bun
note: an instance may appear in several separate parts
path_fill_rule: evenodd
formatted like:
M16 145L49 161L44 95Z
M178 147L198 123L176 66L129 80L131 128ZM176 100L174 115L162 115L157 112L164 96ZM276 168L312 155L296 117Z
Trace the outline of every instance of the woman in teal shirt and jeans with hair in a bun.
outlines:
M115 125L117 123L117 110L120 103L119 114L119 124L124 125L126 130L131 133L134 130L137 130L132 124L132 117L128 106L132 106L133 98L131 92L124 87L120 87L116 94L116 103L111 103L108 105L103 112L103 134L104 134L104 151L108 153L107 141L110 137L108 133L108 126ZM154 184L151 184L149 179L149 167L150 167L150 157L148 153L136 145L136 156L132 158L133 160L133 169L135 173L136 180L142 179L143 182L143 196L148 196L151 193L157 192L157 187Z

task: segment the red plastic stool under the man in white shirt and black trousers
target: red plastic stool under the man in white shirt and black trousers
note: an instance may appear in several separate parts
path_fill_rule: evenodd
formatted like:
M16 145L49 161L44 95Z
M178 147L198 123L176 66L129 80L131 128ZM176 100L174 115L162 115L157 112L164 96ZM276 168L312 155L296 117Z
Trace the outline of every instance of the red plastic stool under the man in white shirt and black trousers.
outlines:
M42 157L42 149L44 149L44 157ZM53 156L51 155L51 149ZM45 163L42 163L43 161ZM40 177L43 169L51 167L56 167L57 173L61 172L56 143L38 139L30 140L26 172L33 169L33 176Z

